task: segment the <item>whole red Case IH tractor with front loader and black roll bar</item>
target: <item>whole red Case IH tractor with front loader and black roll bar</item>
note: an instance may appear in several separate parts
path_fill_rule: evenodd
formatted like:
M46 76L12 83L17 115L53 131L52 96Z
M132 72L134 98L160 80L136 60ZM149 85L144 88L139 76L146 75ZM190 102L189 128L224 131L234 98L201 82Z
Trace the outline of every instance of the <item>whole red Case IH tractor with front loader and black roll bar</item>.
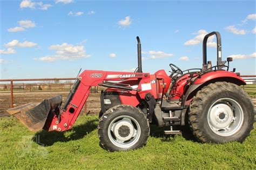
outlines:
M206 44L217 37L217 65L207 61ZM203 40L203 68L182 71L170 64L154 74L142 71L140 39L138 68L134 72L85 70L79 74L62 105L62 96L11 108L31 131L70 130L90 94L91 86L107 87L100 96L98 135L109 151L127 151L146 144L150 124L170 126L165 134L180 134L173 126L189 125L200 142L242 142L250 135L254 123L254 106L239 86L245 81L230 69L232 58L221 60L219 32Z

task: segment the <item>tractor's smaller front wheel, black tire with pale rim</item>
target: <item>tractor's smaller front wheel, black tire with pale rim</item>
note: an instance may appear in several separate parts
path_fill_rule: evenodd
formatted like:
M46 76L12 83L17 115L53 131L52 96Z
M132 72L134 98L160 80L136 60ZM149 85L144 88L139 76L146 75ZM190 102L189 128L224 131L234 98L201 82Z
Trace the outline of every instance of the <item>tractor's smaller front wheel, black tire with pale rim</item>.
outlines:
M99 119L100 144L111 152L140 148L146 144L149 133L149 121L137 107L117 105Z

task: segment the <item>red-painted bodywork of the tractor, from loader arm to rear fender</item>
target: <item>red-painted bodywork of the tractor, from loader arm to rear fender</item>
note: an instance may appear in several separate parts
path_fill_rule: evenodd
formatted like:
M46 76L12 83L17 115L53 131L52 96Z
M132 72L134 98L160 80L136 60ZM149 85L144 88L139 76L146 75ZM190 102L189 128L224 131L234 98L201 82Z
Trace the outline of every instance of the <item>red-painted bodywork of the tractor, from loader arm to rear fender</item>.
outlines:
M198 77L194 73L194 84L204 84L207 81L218 78L235 79L241 84L245 84L237 74L228 71L211 71L204 73ZM91 86L100 86L104 81L120 81L119 83L127 84L133 87L132 91L123 91L120 89L109 88L107 91L116 91L122 104L138 106L140 100L145 98L146 93L151 93L156 100L160 100L163 93L165 94L171 85L172 79L166 74L164 70L159 70L154 74L149 73L133 73L133 72L112 72L112 71L98 71L85 70L79 75L80 84L68 108L60 114L60 122L58 122L57 115L53 115L51 120L46 122L46 130L48 131L66 131L72 128L80 111L82 110L87 98L90 94ZM184 95L187 80L191 79L190 74L184 74L177 79L176 83L170 91L173 99L181 99ZM191 81L190 81L191 83ZM188 84L188 87L190 84ZM137 91L136 91L137 90ZM61 109L60 109L61 111Z

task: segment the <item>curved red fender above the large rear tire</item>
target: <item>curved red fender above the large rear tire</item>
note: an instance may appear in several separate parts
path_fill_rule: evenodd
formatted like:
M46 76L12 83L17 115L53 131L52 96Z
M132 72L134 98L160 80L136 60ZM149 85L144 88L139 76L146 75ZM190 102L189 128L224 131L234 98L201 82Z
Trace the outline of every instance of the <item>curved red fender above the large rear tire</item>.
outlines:
M206 72L201 76L197 76L191 79L191 85L188 87L183 98L183 105L190 105L191 99L199 90L201 90L204 86L207 86L210 83L215 83L217 81L226 81L228 83L234 83L238 86L246 85L245 80L240 78L234 72L225 70Z

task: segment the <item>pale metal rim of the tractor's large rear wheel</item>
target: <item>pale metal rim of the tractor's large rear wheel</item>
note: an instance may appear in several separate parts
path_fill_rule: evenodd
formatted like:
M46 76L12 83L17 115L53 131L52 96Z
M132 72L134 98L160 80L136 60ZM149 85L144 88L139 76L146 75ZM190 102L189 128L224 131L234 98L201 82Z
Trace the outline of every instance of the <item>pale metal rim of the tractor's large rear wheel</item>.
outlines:
M207 120L212 132L228 137L240 130L244 112L237 101L231 98L222 98L211 105Z

